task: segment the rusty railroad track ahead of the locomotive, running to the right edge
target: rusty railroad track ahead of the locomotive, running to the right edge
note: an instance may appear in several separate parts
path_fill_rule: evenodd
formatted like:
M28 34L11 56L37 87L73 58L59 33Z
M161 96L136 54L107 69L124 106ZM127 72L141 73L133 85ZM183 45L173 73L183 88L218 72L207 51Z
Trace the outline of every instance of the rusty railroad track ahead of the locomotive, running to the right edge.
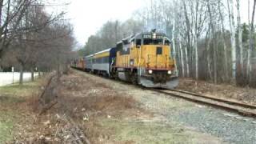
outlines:
M227 100L223 98L214 98L202 94L195 94L183 90L154 90L162 94L167 94L170 96L184 98L192 102L198 102L205 105L210 105L225 110L231 110L235 113L242 114L245 116L250 116L256 118L256 106L246 104L243 102L237 102L232 100Z

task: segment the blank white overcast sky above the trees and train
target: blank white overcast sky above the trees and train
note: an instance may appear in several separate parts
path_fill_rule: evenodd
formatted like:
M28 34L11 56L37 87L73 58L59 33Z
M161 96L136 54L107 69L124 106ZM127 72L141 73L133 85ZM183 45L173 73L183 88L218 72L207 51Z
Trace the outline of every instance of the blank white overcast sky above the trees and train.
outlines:
M140 7L145 5L146 2L150 2L150 0L63 1L70 3L70 5L64 6L64 10L67 12L67 18L70 18L71 23L74 25L74 35L80 45L84 45L87 41L87 38L89 38L90 35L95 34L100 29L102 24L108 20L118 19L125 21L126 19L132 17L132 14L135 10L138 10ZM242 2L242 21L247 22L247 0L240 1ZM250 1L252 6L253 0ZM60 2L60 0L54 0L51 2ZM234 9L235 8L236 7L234 7ZM58 6L54 6L54 10L56 9L58 9Z

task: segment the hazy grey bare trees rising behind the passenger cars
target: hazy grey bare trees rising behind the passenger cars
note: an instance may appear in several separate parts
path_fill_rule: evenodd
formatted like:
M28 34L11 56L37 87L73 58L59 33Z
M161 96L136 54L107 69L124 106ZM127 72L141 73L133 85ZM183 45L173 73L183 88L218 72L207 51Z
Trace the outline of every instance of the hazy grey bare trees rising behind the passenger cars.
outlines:
M109 21L106 22L97 34L91 35L86 45L79 51L80 56L93 54L100 50L106 50L114 47L122 38L137 34L143 30L143 24L140 21L129 19L126 22Z

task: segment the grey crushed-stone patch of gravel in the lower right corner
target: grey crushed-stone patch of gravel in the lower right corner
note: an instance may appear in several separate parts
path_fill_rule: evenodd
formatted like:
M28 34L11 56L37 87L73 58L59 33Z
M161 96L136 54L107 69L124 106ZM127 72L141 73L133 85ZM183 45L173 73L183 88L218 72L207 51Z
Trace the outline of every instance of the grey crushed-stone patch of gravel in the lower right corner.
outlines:
M226 142L253 144L256 142L256 123L253 118L244 118L223 110L207 106L191 107L190 110L180 110L164 114L167 119L182 122Z

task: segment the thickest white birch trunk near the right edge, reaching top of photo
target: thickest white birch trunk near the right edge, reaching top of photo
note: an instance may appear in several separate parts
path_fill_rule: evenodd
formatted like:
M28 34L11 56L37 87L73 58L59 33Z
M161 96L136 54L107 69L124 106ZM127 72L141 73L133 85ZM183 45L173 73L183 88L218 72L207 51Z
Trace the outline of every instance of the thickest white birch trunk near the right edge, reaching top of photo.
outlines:
M230 1L230 2L229 2ZM232 81L236 84L236 44L235 44L235 31L234 31L234 8L233 0L227 0L229 19L230 19L230 34L231 34L231 51L232 51Z

